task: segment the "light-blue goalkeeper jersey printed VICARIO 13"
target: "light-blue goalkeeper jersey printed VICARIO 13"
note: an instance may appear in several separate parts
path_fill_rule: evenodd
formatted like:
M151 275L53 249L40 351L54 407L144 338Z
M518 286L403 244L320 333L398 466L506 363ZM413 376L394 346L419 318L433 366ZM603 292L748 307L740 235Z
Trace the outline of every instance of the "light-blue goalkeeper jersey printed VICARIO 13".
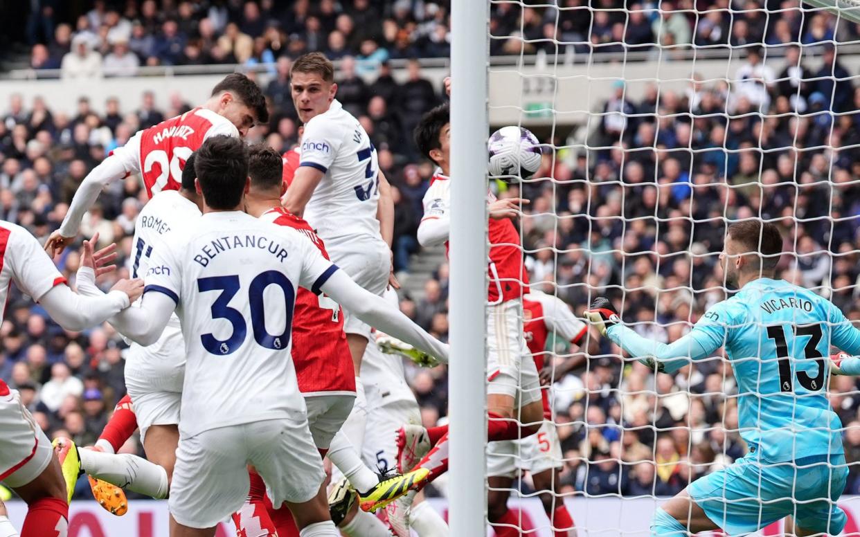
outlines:
M785 280L759 278L712 306L690 335L723 345L738 384L738 427L767 462L843 453L828 400L830 345L851 348L851 323L832 302Z

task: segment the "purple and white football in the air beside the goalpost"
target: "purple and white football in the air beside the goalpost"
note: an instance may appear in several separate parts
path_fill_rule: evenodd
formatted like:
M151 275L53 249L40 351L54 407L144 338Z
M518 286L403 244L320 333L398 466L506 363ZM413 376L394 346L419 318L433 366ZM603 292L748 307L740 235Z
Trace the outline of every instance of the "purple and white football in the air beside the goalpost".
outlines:
M540 143L523 127L501 127L489 137L487 147L491 176L505 180L530 179L540 168Z

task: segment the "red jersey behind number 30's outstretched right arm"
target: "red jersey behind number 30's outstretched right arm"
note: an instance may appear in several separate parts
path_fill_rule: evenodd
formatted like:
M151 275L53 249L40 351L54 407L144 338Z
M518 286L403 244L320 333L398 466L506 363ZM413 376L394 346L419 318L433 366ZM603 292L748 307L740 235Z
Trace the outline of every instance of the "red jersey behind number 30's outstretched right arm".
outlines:
M302 218L282 207L267 211L261 218L297 229L319 248L322 257L329 259L322 239ZM292 361L298 389L305 396L355 392L355 369L347 334L343 332L341 307L328 296L317 296L302 287L296 293L292 314Z

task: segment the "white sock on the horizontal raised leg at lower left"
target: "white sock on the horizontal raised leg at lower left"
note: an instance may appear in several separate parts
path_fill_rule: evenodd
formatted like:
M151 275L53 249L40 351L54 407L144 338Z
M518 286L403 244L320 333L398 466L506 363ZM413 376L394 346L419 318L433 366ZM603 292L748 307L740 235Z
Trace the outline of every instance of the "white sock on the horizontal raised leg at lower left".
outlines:
M137 455L111 455L78 449L81 469L96 479L157 500L167 497L167 471Z

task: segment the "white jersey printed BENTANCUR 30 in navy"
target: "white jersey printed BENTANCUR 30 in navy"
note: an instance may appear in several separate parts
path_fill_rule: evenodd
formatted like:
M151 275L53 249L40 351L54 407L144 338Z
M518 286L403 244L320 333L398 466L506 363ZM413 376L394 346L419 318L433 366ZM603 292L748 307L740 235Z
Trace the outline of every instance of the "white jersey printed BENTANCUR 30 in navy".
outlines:
M172 298L185 337L183 436L266 419L303 419L291 358L296 288L337 270L295 229L210 212L153 249L146 292Z

